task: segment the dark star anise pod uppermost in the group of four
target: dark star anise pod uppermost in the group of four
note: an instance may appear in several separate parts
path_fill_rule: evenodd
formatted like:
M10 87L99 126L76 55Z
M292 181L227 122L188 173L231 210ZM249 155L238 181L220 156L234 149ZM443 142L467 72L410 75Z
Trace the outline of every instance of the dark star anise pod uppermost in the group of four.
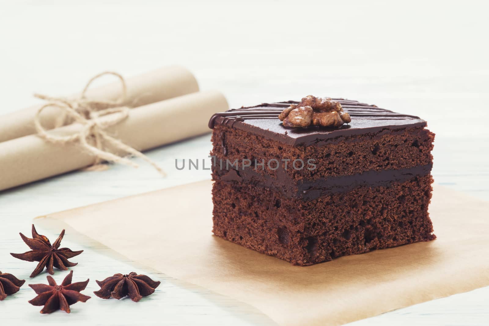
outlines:
M65 230L61 231L60 236L52 245L47 237L37 233L34 224L32 225L32 239L26 237L22 233L19 234L21 235L25 244L32 250L23 254L11 253L10 255L26 261L39 261L36 269L30 275L31 278L41 273L44 270L44 267L46 267L47 272L51 275L54 274L53 266L63 271L67 271L67 267L77 265L77 263L69 262L68 258L78 256L83 253L83 250L71 251L68 248L58 249L61 244L61 240L65 235Z

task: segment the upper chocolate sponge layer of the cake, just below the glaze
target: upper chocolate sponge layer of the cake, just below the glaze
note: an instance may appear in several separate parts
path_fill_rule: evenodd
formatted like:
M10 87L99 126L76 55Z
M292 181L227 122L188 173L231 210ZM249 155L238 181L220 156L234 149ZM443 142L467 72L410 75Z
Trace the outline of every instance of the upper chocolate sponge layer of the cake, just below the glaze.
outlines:
M219 125L214 128L212 135L211 155L215 157L213 178L219 180L228 174L230 169L225 166L227 160L229 163L237 162L236 170L240 174L254 179L261 178L268 186L314 187L315 181L324 182L332 177L427 166L433 160L433 140L433 133L418 127L341 137L341 140L332 139L328 145L322 146L291 146L278 140L264 139L248 131ZM243 160L246 159L251 166L243 166ZM280 166L273 169L275 165L270 164L272 168L268 168L270 160L277 160ZM300 160L296 167L304 162L304 168L294 169L294 160ZM314 169L307 168L309 160L313 160ZM263 166L255 165L263 162L266 162ZM246 170L249 172L246 173ZM267 182L270 178L273 179L271 183Z

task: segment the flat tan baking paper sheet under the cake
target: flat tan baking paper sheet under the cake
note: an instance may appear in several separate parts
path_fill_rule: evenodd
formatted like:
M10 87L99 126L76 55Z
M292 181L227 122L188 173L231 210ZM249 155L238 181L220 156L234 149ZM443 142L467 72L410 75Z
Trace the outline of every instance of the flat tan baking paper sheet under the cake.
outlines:
M47 217L279 325L325 326L489 285L489 203L435 186L429 211L435 241L305 267L213 236L210 181Z

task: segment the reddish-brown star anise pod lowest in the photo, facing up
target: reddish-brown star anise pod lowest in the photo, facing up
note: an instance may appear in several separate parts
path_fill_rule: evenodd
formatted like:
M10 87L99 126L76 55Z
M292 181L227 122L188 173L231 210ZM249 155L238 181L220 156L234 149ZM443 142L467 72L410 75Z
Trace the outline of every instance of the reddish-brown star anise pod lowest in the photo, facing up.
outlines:
M29 301L32 305L44 305L41 309L42 314L50 314L58 309L70 313L69 306L79 301L87 302L89 296L81 294L80 291L85 290L89 279L85 282L71 283L73 271L69 272L61 285L56 284L51 276L47 276L46 284L29 284L29 286L38 294L37 297Z

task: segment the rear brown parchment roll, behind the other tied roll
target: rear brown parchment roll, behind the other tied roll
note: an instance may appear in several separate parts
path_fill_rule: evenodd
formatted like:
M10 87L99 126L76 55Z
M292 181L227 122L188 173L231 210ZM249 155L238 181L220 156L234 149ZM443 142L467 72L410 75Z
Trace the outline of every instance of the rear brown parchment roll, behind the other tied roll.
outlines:
M199 85L194 75L179 66L164 67L149 71L126 80L127 105L138 107L165 99L199 92ZM80 85L82 88L85 85ZM79 96L68 96L68 98ZM90 88L87 98L94 100L117 100L121 97L119 81L98 88ZM0 116L0 142L36 133L34 116L40 105ZM56 108L46 108L41 114L41 123L46 129L54 128L55 118L60 114Z

